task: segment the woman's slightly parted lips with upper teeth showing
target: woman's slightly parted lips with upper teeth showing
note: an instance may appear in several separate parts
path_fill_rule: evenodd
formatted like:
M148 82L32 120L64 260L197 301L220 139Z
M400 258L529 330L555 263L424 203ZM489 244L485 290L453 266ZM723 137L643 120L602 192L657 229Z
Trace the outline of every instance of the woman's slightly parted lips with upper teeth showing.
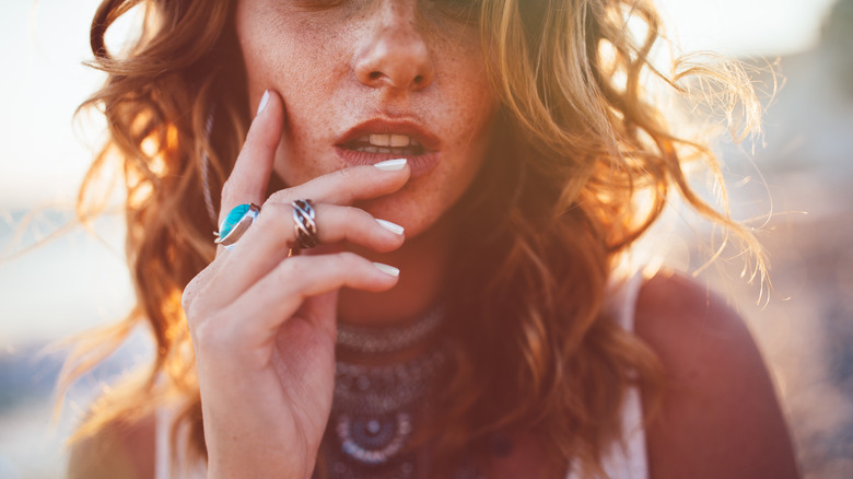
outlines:
M417 177L437 164L440 145L439 137L417 121L372 119L347 131L335 150L350 165L405 157Z

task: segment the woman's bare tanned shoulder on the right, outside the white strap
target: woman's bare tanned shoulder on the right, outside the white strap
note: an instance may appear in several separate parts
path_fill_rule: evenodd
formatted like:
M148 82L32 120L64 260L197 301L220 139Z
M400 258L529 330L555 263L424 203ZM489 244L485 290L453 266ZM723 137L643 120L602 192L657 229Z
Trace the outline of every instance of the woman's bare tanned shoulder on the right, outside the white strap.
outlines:
M640 292L635 330L657 352L667 381L647 430L652 477L798 477L767 366L725 301L659 273Z

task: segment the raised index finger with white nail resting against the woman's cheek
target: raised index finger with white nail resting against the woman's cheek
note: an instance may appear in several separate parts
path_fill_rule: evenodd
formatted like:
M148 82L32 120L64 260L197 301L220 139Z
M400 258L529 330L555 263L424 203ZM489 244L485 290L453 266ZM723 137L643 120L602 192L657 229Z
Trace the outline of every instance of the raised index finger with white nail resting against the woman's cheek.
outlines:
M284 104L276 92L268 90L264 92L246 142L222 187L220 221L237 205L264 202L283 126Z

